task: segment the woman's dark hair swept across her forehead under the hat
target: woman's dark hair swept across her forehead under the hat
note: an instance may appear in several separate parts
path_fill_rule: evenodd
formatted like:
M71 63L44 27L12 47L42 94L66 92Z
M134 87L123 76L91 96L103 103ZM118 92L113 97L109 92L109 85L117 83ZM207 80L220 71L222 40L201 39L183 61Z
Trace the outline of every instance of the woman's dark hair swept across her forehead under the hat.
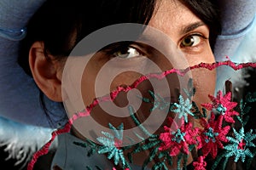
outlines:
M31 76L28 52L33 42L44 42L45 55L68 56L85 36L104 26L118 23L147 25L157 0L47 0L27 24L20 42L20 66ZM210 28L213 49L220 32L218 8L212 0L179 0ZM85 5L84 5L85 3ZM74 39L72 39L75 37Z

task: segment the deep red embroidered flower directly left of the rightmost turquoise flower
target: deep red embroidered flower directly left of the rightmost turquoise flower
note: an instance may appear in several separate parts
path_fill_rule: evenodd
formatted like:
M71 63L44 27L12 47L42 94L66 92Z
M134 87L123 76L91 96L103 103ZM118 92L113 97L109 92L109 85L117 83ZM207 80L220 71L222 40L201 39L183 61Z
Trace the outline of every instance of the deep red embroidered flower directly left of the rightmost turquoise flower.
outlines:
M198 149L202 149L203 156L210 153L215 158L218 148L224 149L222 142L229 141L226 139L226 135L230 131L230 126L222 127L222 122L223 116L218 116L218 119L215 120L214 113L212 113L208 122L201 119L201 124L205 128L201 130L201 135L197 137L197 140L199 142Z

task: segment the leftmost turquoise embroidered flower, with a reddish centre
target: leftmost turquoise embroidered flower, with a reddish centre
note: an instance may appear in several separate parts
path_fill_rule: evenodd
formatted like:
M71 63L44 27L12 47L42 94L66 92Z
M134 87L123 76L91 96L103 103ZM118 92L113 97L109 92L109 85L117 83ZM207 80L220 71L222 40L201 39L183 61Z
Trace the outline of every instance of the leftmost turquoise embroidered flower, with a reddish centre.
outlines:
M113 130L113 134L102 132L105 137L98 137L97 140L102 144L99 147L98 153L108 153L108 159L113 159L114 164L118 165L119 161L122 162L123 167L127 167L123 150L120 148L123 140L124 126L121 124L118 128L109 124L109 127Z

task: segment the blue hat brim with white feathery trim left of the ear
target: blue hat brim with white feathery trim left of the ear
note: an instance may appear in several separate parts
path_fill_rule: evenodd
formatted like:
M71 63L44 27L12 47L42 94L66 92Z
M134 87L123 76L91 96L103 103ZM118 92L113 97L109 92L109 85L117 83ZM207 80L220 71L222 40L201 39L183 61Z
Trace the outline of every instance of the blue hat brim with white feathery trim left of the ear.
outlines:
M26 23L45 0L0 0L0 145L9 159L26 163L50 139L53 128L67 122L59 103L46 99L47 116L39 90L17 63Z

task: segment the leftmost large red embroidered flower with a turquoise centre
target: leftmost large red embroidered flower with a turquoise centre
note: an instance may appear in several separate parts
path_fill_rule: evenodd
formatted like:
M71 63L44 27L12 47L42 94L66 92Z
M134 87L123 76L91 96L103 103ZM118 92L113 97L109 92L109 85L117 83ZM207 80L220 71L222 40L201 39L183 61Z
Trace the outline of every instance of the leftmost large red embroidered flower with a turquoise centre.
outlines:
M196 135L198 128L193 128L191 122L186 125L181 122L181 126L177 126L177 122L169 117L169 127L165 126L166 133L160 133L159 150L170 150L170 156L177 156L180 152L189 154L189 144L196 144Z

